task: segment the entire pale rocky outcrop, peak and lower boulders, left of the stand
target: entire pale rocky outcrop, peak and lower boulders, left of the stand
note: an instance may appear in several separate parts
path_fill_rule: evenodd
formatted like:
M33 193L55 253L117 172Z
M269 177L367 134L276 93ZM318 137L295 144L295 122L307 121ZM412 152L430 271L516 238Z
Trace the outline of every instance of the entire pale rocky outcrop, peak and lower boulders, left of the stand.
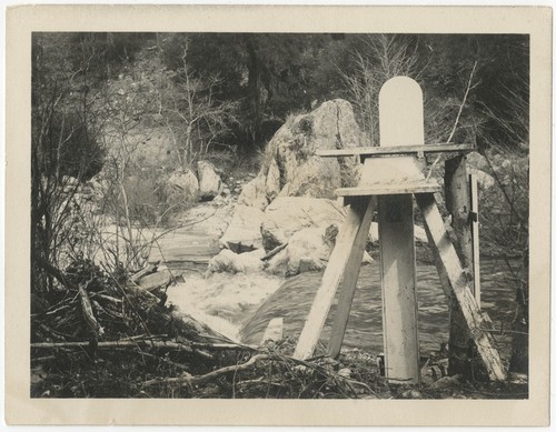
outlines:
M360 164L357 158L326 159L316 152L365 144L351 106L345 100L325 102L286 121L267 144L259 173L244 187L220 245L237 254L245 252L245 247L247 251L264 247L267 252L284 247L266 262L271 273L325 268L331 251L325 234L345 217L334 201L334 191L355 185ZM214 271L229 269L228 261L240 259L232 255L225 252L226 265L215 261Z

